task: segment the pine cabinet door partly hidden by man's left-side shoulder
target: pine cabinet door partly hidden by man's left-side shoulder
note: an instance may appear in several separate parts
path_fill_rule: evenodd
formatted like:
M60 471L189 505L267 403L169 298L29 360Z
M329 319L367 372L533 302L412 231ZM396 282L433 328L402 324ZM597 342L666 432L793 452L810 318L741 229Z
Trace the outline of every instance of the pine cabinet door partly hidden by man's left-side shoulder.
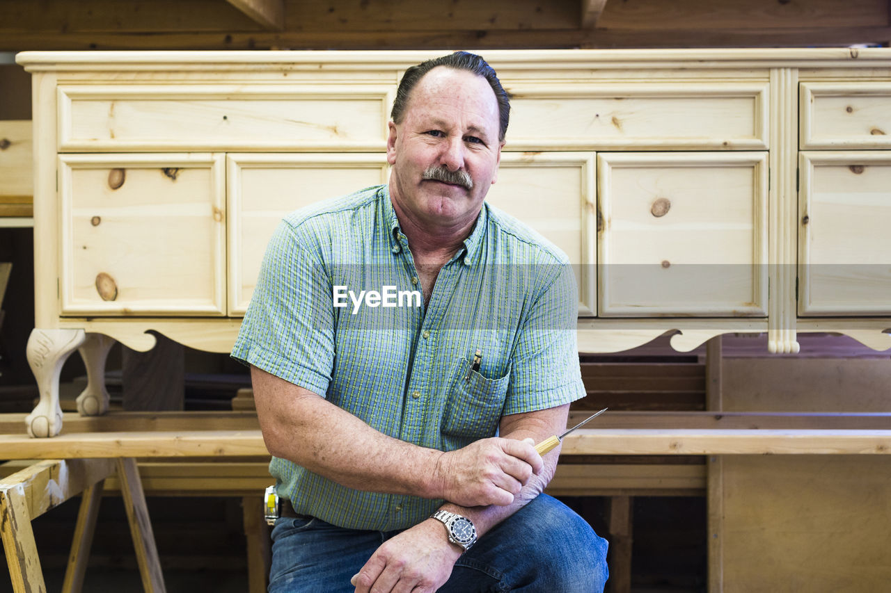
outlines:
M229 314L244 315L266 243L299 207L386 183L387 155L230 154Z

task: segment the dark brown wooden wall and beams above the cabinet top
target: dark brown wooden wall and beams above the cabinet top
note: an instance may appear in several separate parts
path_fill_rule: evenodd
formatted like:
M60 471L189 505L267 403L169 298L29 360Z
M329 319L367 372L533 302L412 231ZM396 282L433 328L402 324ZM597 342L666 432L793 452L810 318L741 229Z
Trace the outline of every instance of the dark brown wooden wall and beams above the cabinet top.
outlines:
M888 0L4 0L0 51L885 44Z

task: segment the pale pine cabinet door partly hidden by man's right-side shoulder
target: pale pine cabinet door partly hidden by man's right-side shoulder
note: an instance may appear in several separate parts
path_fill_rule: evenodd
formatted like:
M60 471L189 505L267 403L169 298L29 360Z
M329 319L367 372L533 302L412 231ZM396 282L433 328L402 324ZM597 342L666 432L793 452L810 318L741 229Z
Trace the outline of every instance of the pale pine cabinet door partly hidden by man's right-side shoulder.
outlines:
M593 152L503 152L486 201L527 223L569 256L581 315L597 311Z

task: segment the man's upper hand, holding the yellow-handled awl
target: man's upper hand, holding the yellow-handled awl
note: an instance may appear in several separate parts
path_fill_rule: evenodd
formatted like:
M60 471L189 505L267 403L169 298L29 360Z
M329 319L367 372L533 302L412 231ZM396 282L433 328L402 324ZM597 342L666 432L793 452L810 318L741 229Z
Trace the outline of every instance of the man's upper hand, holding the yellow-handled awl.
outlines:
M544 467L531 439L489 438L443 453L436 480L442 498L462 507L505 507Z

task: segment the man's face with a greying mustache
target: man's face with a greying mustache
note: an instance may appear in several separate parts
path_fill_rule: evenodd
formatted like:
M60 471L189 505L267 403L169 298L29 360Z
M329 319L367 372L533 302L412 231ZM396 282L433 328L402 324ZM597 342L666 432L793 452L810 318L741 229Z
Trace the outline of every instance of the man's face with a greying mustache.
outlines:
M413 88L402 123L389 124L390 195L397 207L425 225L461 227L474 220L498 174L498 129L498 102L484 77L443 66L430 70ZM446 181L425 178L437 169Z

